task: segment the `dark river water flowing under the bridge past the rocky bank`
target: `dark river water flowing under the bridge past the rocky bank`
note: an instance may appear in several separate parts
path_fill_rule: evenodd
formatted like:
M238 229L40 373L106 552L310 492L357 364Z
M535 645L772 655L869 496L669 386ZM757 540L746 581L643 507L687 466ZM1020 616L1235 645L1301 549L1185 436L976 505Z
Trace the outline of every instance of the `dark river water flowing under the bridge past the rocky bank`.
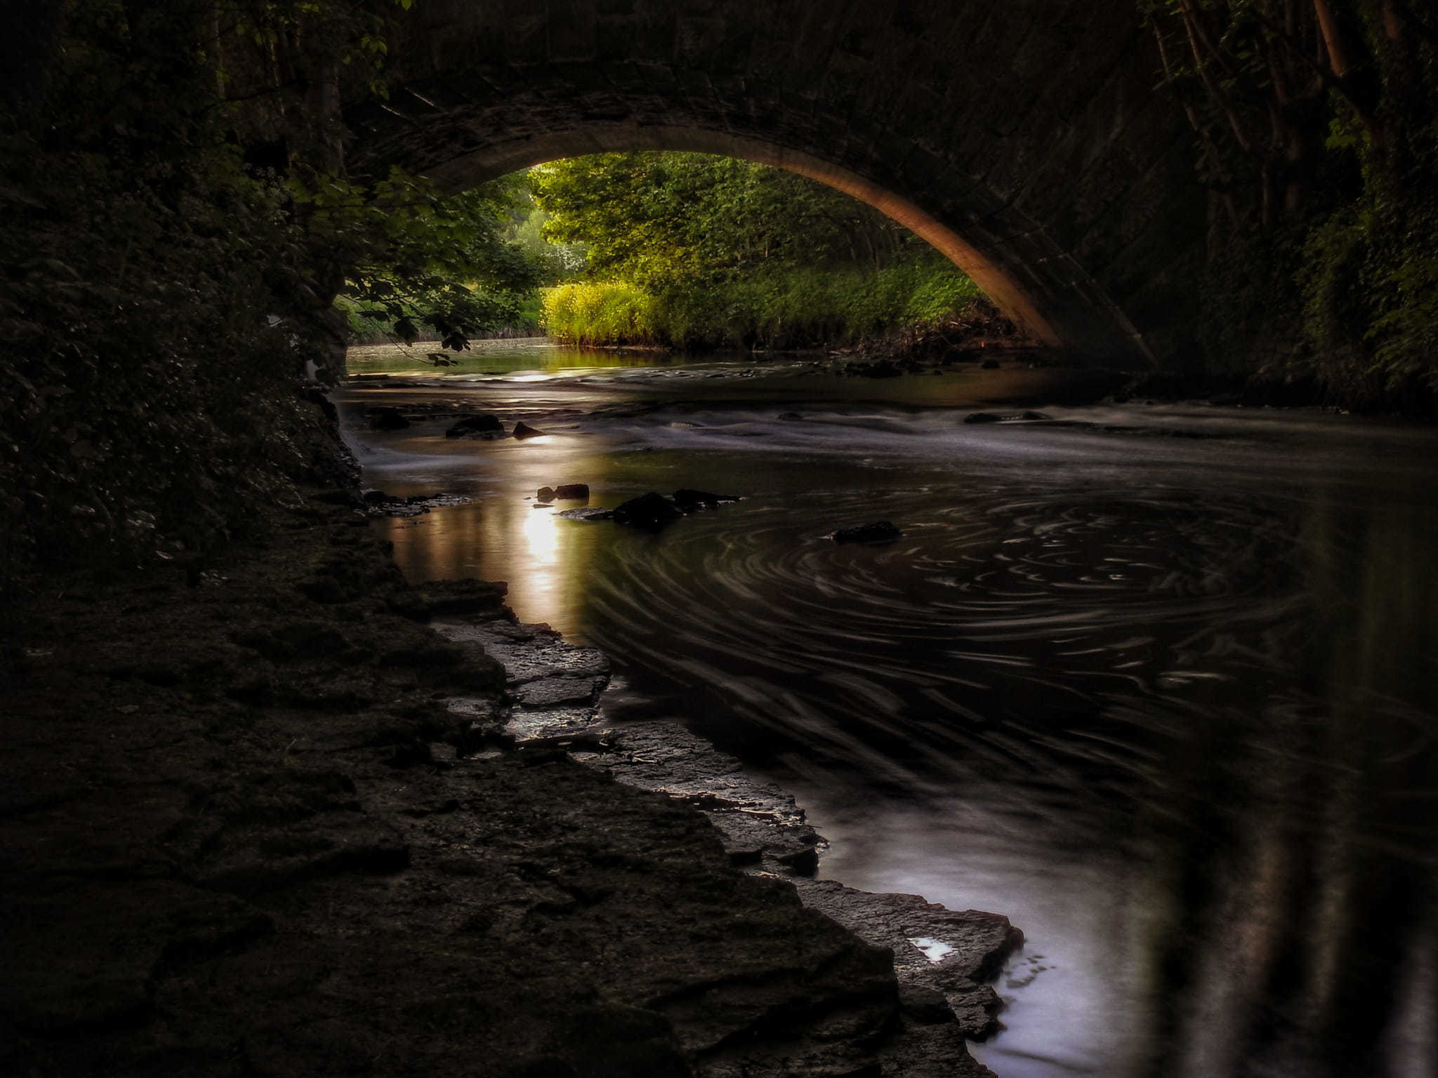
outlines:
M411 581L510 585L798 795L821 875L1005 913L999 1078L1438 1074L1438 433L1044 407L1024 369L840 378L505 346L352 354ZM367 407L421 415L364 428ZM446 440L454 414L545 431ZM653 535L561 516L697 487ZM887 546L837 545L890 520Z

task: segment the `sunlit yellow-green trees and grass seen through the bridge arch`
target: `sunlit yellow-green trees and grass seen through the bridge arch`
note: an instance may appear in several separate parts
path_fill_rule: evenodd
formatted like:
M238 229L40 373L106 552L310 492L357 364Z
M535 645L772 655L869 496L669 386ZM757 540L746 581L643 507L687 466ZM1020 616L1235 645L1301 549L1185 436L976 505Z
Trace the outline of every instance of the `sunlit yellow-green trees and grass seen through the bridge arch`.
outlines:
M544 234L582 244L605 282L548 293L561 339L811 348L940 325L978 298L907 230L782 170L653 152L532 175Z

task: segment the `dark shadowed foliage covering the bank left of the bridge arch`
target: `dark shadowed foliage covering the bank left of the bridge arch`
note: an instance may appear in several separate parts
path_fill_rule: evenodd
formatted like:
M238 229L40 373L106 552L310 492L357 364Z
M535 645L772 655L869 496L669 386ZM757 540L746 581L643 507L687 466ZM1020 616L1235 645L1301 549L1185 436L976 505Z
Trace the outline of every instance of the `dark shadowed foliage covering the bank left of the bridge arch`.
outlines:
M45 79L0 83L0 592L206 549L338 466L296 394L334 344L326 273L418 260L282 174L319 175L326 116L289 114L347 59L374 76L385 6L66 0Z

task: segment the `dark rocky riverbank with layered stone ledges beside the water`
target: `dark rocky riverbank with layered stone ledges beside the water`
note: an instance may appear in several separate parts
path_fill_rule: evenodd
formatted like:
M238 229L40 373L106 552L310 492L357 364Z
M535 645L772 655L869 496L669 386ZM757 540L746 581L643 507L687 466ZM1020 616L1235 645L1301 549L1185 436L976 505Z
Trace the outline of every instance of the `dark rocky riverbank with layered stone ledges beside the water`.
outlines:
M262 533L16 619L6 1072L984 1074L1004 918L808 880L782 793L325 492Z

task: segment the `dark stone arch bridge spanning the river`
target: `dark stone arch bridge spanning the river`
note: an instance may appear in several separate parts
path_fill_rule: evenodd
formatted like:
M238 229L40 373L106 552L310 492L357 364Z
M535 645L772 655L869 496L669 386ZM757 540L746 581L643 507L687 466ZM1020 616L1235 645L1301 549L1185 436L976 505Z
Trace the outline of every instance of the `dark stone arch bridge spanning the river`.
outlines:
M1191 351L1206 200L1132 0L423 0L390 55L355 174L743 157L876 206L1076 358Z

